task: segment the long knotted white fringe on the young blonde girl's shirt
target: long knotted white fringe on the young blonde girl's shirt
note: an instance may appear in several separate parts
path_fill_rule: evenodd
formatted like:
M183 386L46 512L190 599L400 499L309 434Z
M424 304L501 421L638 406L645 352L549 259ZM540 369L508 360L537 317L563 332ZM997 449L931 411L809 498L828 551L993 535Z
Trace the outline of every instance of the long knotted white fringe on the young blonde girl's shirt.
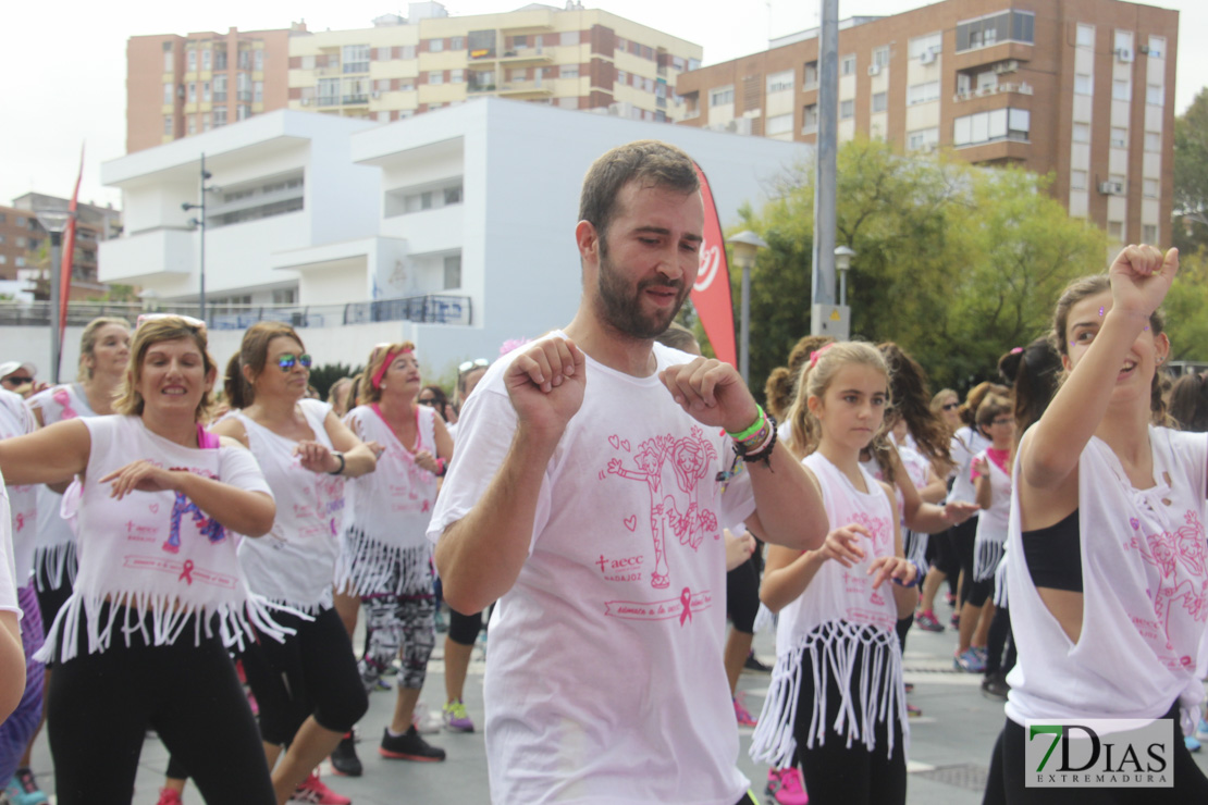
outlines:
M859 700L853 695L852 678L855 671L856 649L865 651L860 664ZM906 719L906 692L902 684L901 647L898 635L873 626L827 620L802 638L791 651L777 657L772 670L772 683L763 700L763 712L751 736L751 758L782 769L791 763L797 748L794 737L797 705L801 696L801 666L805 653L809 652L813 670L814 706L809 722L807 749L826 742L827 729L846 735L847 746L860 741L872 752L876 749L877 722L896 719L902 728L904 749L910 748L910 728ZM826 690L831 676L836 677L844 692L838 717L827 725ZM889 725L888 757L894 753L894 724Z

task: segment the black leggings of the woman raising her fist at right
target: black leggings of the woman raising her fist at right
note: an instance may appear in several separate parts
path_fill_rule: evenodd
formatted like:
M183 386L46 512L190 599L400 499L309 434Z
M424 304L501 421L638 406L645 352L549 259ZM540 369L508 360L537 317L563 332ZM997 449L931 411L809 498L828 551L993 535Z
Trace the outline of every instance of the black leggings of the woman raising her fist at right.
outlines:
M1171 758L1174 766L1173 788L1028 788L1024 768L1027 731L1010 718L999 733L991 757L989 777L982 805L1154 805L1171 803L1208 803L1208 777L1200 770L1183 742L1179 729L1179 702L1175 701L1162 718L1174 719L1174 746ZM813 801L813 792L809 792Z

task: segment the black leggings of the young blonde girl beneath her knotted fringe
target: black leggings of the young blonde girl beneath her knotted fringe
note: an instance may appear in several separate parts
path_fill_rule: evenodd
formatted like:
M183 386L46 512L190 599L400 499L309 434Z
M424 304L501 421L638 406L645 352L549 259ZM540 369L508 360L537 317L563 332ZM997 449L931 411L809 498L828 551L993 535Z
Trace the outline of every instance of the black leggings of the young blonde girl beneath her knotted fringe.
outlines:
M852 690L861 684L861 666L865 647L861 646L852 663ZM879 696L879 693L870 695ZM889 729L885 721L876 722L876 745L871 752L863 741L853 740L834 731L831 725L838 717L842 702L836 675L831 672L826 689L826 742L806 748L809 722L814 707L814 669L809 654L801 658L801 694L797 700L797 717L792 736L797 741L797 756L811 805L902 805L906 801L906 754L902 747L901 724L894 719L894 752L889 756Z

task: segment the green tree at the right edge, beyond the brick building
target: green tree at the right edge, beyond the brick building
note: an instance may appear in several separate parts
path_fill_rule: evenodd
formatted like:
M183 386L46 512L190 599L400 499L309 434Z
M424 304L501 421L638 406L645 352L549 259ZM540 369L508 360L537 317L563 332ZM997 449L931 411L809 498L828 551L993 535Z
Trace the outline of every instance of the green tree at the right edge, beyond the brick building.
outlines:
M1174 245L1208 246L1208 87L1174 118Z

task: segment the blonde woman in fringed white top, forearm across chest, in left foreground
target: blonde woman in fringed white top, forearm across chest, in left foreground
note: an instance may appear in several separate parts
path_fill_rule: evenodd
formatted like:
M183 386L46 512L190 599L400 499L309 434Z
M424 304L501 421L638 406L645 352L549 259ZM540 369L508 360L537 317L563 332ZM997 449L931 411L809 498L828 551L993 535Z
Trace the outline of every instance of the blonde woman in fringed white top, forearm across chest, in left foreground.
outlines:
M245 640L249 620L280 637L236 558L236 533L266 533L275 507L255 459L202 426L216 375L203 327L151 321L117 415L0 442L8 482L81 482L75 589L39 653L56 660L47 721L64 805L129 803L147 728L209 801L274 801L223 638Z

